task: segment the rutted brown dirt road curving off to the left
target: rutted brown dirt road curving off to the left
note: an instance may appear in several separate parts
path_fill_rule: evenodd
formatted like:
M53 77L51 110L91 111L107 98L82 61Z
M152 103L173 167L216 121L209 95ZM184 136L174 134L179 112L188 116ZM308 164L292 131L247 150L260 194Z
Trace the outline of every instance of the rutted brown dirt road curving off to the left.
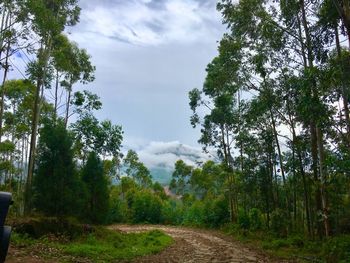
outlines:
M136 259L135 263L283 262L268 258L266 255L214 231L148 225L114 225L110 229L118 229L124 232L160 229L174 238L175 244L163 252Z

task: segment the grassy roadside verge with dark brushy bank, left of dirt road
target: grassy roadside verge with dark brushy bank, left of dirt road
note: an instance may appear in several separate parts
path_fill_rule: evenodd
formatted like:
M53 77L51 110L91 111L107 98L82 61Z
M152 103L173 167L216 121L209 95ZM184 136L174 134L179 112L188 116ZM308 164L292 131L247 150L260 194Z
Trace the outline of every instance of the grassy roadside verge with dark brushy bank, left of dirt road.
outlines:
M126 234L102 226L42 218L17 225L11 242L22 254L44 260L115 262L160 252L173 240L158 230Z

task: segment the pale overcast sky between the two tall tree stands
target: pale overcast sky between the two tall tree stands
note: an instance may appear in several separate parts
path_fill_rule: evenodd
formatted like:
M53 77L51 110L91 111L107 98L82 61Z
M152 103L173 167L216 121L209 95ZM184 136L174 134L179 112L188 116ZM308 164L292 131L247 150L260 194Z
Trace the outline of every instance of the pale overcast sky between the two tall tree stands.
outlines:
M96 66L100 119L123 126L124 145L178 141L198 146L189 90L202 87L224 26L215 0L81 0L70 38Z

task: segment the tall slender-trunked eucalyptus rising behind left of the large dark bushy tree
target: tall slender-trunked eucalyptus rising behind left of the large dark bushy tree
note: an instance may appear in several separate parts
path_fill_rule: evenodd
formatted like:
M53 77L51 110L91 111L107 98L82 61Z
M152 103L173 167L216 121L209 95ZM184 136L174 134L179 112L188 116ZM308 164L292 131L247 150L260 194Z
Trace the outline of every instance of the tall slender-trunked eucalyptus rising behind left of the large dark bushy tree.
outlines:
M66 26L73 26L79 21L80 8L77 5L77 2L77 0L28 0L26 2L32 30L39 39L36 61L30 63L28 67L28 74L36 83L36 90L26 183L26 213L29 213L31 210L29 200L32 195L31 185L41 108L41 92L43 92L45 86L49 85L52 77L50 76L49 61L52 55L53 41Z

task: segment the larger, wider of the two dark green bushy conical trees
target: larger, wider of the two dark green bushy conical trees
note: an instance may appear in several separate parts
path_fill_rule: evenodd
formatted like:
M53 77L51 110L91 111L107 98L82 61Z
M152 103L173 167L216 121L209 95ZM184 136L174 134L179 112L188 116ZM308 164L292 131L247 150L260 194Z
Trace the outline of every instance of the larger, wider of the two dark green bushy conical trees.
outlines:
M35 208L48 216L80 215L84 187L73 162L72 136L62 120L40 130L33 193Z

